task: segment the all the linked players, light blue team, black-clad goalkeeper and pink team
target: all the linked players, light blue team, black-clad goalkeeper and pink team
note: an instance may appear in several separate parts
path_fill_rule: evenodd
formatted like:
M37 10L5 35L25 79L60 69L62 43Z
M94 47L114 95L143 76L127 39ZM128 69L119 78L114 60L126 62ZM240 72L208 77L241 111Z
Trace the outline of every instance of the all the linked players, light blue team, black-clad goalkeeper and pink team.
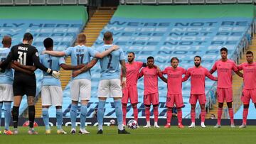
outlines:
M212 69L208 71L201 66L201 57L194 57L194 67L188 70L178 67L178 57L171 58L171 66L166 67L163 71L154 65L154 57L147 57L147 62L137 62L134 60L134 52L128 52L127 62L125 62L124 52L122 48L113 45L113 37L111 32L104 34L104 45L92 49L85 46L86 36L83 33L78 35L75 47L70 47L64 51L53 51L53 39L46 38L43 45L46 48L42 55L31 44L33 35L25 33L23 42L11 47L11 37L4 36L2 40L3 48L0 48L0 123L1 108L4 104L4 134L18 134L18 110L21 104L22 96L26 94L28 101L28 134L38 134L34 128L35 120L35 96L36 96L36 75L34 71L39 68L43 70L43 80L41 88L42 98L42 115L43 122L46 126L46 134L50 134L49 114L50 106L56 108L57 133L66 134L63 131L63 92L60 87L59 70L73 70L72 82L70 84L70 95L72 104L70 108L71 131L75 134L75 122L78 113L78 101L80 99L80 134L88 134L90 132L85 129L85 121L87 116L87 104L91 96L91 74L92 68L97 61L100 61L101 75L98 87L98 108L97 134L103 133L103 118L105 112L105 103L107 97L114 99L114 109L117 116L117 127L119 134L129 134L124 127L126 126L127 103L130 101L134 111L134 120L138 121L138 92L137 80L144 77L144 106L146 115L145 128L150 125L150 106L153 105L154 111L154 127L158 126L158 77L167 83L166 95L166 126L171 127L171 116L174 105L177 108L178 128L184 128L182 125L183 97L182 82L191 77L191 96L189 102L191 104L191 126L194 128L196 118L196 102L199 101L201 106L201 127L206 128L204 121L206 116L206 94L205 94L205 77L217 81L217 98L218 98L218 123L215 128L220 128L220 120L223 113L223 103L226 101L230 116L230 126L235 128L233 119L233 92L232 92L232 73L233 71L244 79L244 87L241 100L244 104L242 113L242 125L240 128L246 127L247 113L250 99L255 103L256 107L256 63L253 62L253 53L247 51L247 62L241 65L235 65L235 62L228 60L228 49L221 48L221 59L217 60ZM71 64L66 65L64 56L71 57ZM91 60L91 57L92 60ZM121 65L121 70L119 68ZM14 69L14 76L12 69ZM243 74L240 72L243 71ZM218 72L218 78L213 77L213 72ZM164 77L167 75L167 78ZM184 75L184 76L183 76ZM11 102L14 101L12 108L12 118L14 123L14 131L10 131L9 123L11 121ZM1 132L1 131L0 131Z

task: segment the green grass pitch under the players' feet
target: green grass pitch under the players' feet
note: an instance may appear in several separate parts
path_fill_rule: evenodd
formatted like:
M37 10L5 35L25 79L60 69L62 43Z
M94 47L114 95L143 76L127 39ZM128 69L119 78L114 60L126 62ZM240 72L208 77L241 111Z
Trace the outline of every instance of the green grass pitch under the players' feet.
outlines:
M135 144L135 143L255 143L256 126L247 126L247 128L230 128L230 126L222 126L221 128L213 128L213 126L207 126L207 128L177 128L177 126L171 126L171 128L137 128L131 130L127 128L127 131L131 132L130 135L118 135L117 127L110 126L104 127L103 135L97 135L97 127L88 126L87 131L90 131L89 135L75 135L70 134L70 127L64 127L67 135L57 135L56 128L51 128L51 134L46 135L44 127L36 127L38 135L28 135L28 128L19 127L18 135L0 135L0 143L121 143L121 144Z

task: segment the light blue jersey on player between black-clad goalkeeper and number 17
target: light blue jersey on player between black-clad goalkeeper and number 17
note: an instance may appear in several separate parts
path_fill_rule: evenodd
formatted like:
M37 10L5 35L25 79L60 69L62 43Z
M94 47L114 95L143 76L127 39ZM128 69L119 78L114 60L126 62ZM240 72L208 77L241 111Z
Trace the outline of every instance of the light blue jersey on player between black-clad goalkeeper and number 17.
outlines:
M49 67L51 70L59 71L60 65L65 64L64 57L53 57L48 54L40 55L40 62L45 66ZM51 74L47 72L43 72L43 86L59 86L60 87L60 79L56 79Z

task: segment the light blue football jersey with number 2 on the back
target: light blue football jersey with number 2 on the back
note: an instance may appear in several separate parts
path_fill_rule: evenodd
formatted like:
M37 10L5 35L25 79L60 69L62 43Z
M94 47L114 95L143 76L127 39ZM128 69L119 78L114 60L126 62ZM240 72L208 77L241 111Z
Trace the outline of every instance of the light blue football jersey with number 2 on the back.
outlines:
M108 50L113 45L102 45L97 48L98 52ZM110 55L100 59L100 79L119 79L120 78L120 60L124 60L122 48L110 52Z

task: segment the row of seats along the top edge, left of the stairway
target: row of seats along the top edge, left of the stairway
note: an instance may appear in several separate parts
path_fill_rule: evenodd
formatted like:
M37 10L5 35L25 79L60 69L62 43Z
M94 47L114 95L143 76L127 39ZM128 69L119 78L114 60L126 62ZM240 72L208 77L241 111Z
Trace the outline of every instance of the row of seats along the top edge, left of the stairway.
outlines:
M87 5L87 0L0 0L0 5Z

